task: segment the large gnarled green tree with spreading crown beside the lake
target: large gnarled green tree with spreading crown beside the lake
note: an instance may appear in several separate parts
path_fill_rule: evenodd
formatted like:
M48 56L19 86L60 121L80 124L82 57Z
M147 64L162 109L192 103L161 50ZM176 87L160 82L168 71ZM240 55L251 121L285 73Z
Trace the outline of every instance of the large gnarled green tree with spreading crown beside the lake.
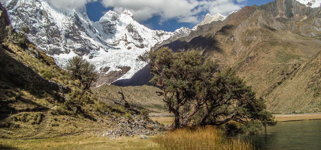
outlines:
M220 71L218 64L195 50L173 52L168 47L140 55L149 63L150 80L161 87L169 111L175 115L174 128L195 124L242 124L273 122L262 98L245 81L228 68Z

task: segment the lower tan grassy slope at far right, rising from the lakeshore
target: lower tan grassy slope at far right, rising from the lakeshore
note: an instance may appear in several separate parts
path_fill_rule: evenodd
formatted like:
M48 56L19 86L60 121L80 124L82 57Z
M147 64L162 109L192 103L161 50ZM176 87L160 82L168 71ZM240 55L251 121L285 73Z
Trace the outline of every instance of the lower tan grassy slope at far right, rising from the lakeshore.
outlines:
M321 53L294 70L268 96L272 111L321 111ZM291 105L293 107L287 107Z

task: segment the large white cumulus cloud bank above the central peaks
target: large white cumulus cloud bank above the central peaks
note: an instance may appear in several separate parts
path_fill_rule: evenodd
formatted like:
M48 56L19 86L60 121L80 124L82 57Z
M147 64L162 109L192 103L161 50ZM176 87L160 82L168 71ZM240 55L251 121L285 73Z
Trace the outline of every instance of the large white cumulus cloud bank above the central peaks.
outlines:
M124 9L132 11L138 21L159 15L160 23L168 19L198 23L203 19L204 13L227 15L240 9L245 2L246 0L101 0L105 7L112 7L117 13Z

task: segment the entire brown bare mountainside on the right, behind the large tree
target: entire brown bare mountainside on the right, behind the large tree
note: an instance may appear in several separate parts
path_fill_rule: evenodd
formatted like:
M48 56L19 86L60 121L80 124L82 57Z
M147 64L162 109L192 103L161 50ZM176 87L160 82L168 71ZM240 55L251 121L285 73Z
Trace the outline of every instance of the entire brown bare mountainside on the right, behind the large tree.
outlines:
M316 79L304 76L305 71L321 76L311 71L319 64L308 65L317 61L315 55L321 51L321 7L275 0L246 6L208 28L165 46L198 49L222 67L236 67L273 112L321 111L320 95L314 94L320 87L310 87L317 84Z

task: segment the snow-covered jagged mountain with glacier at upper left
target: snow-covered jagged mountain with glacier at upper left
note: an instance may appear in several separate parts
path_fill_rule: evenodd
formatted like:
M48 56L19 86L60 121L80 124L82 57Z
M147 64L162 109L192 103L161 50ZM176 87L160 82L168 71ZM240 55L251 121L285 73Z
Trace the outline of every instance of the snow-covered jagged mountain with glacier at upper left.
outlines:
M149 29L128 10L108 11L93 22L86 13L59 9L45 0L8 0L5 5L14 28L29 26L29 39L59 66L75 55L94 63L103 78L98 85L130 78L146 65L136 60L138 55L172 35L180 36Z

